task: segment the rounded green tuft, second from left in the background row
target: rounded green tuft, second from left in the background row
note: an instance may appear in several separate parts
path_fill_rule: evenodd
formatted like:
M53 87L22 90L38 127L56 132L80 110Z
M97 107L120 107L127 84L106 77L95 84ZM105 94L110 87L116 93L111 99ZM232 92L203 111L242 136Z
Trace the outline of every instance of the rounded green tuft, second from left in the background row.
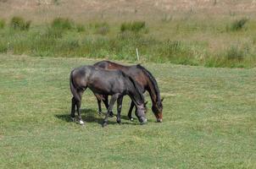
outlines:
M60 30L71 30L75 28L72 20L64 18L53 19L52 27Z

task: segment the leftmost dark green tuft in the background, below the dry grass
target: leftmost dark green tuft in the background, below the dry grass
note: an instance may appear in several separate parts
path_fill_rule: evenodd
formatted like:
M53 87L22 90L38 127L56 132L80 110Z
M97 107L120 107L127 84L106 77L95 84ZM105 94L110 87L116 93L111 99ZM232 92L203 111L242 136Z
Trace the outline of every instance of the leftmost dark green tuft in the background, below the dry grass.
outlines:
M29 30L31 27L31 21L25 21L25 19L21 17L14 16L11 19L10 27L14 30Z

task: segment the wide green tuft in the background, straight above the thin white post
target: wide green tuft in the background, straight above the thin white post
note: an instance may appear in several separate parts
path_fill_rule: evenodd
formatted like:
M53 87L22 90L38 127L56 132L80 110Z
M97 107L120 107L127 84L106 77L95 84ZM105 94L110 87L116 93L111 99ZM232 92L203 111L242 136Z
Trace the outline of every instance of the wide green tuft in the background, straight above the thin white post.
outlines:
M120 27L121 32L124 32L126 30L139 32L140 30L145 30L145 29L146 29L145 21L134 21L130 23L123 23Z

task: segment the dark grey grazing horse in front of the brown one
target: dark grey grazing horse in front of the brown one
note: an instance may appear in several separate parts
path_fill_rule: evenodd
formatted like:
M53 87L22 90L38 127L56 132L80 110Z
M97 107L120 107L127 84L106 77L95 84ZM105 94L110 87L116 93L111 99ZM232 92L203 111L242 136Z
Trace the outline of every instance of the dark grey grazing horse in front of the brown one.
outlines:
M117 123L121 122L120 112L124 95L129 95L136 106L136 116L143 124L147 122L145 116L144 97L140 85L129 75L120 70L105 70L94 66L83 66L75 68L70 73L70 90L73 95L71 106L71 117L75 118L75 106L77 108L79 122L81 120L81 96L86 88L99 95L112 95L108 112L103 119L103 127L108 123L109 112L112 112L114 102L117 101Z

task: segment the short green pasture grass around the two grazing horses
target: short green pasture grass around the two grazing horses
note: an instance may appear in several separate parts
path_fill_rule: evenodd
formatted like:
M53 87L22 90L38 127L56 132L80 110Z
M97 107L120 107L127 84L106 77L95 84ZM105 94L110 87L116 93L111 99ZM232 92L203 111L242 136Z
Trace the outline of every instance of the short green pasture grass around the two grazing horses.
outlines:
M129 122L125 97L122 124L102 128L87 90L81 127L69 121L69 74L95 62L0 55L0 168L256 167L255 68L143 63L165 97L164 122L151 111L146 125Z

